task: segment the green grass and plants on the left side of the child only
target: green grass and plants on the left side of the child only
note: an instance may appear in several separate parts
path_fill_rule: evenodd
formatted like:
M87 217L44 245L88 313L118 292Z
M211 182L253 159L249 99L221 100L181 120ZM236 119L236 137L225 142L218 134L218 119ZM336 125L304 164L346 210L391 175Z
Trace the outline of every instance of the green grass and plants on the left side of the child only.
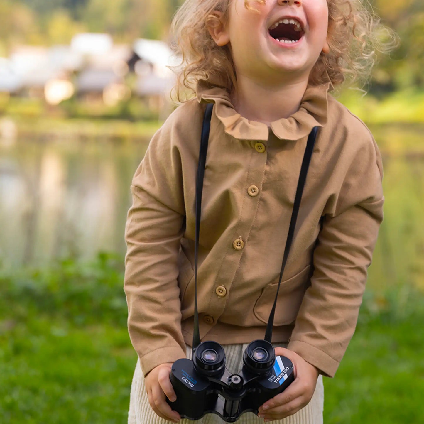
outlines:
M0 277L0 422L124 423L137 355L121 260Z

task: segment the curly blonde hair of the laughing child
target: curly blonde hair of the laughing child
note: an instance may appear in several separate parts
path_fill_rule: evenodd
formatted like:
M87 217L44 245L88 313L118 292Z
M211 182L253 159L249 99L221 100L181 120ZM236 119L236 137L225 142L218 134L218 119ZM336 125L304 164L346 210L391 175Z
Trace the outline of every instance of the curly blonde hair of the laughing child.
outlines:
M228 45L219 47L212 39L207 25L221 11L228 20L233 0L186 0L176 12L172 25L174 53L181 56L177 82L174 86L179 102L195 94L199 79L214 76L224 81L230 91L237 88L234 62ZM245 0L245 7L257 9L251 3L265 4L266 0ZM310 74L311 84L331 81L333 86L344 81L366 83L374 66L376 51L385 52L396 43L393 31L381 25L368 0L327 0L329 10L328 44L330 52L321 53Z

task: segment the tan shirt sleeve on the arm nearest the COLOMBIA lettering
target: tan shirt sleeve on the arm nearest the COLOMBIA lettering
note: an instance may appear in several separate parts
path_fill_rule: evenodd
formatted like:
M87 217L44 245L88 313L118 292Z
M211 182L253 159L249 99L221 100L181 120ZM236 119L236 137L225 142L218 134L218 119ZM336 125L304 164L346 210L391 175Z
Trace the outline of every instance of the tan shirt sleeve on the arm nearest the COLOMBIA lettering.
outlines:
M340 192L327 202L311 285L288 345L326 377L334 377L354 334L383 219L382 161L374 139L347 168Z

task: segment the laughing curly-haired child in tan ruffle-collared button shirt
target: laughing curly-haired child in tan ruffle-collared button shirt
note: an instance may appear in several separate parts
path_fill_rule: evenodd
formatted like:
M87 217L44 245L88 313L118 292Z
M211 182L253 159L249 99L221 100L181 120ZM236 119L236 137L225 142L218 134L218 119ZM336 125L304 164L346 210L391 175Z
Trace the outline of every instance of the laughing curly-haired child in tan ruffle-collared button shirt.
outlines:
M328 92L370 70L376 25L359 0L186 0L177 12L184 65L177 94L185 86L195 98L153 136L131 185L125 292L139 360L128 423L181 418L165 396L176 397L172 363L191 357L206 103L214 107L199 242L200 336L223 344L233 372L247 344L265 336L307 137L319 127L272 339L296 378L259 417L245 413L238 422L323 422L322 377L334 377L354 333L384 201L372 135ZM196 422L223 421L208 414Z

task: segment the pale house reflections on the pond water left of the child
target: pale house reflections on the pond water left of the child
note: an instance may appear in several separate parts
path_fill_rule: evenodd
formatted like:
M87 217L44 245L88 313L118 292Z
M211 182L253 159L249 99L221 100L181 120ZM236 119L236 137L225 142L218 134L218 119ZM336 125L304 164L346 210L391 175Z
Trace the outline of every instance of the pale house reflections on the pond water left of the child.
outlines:
M19 141L1 148L3 265L124 252L129 187L147 144Z

